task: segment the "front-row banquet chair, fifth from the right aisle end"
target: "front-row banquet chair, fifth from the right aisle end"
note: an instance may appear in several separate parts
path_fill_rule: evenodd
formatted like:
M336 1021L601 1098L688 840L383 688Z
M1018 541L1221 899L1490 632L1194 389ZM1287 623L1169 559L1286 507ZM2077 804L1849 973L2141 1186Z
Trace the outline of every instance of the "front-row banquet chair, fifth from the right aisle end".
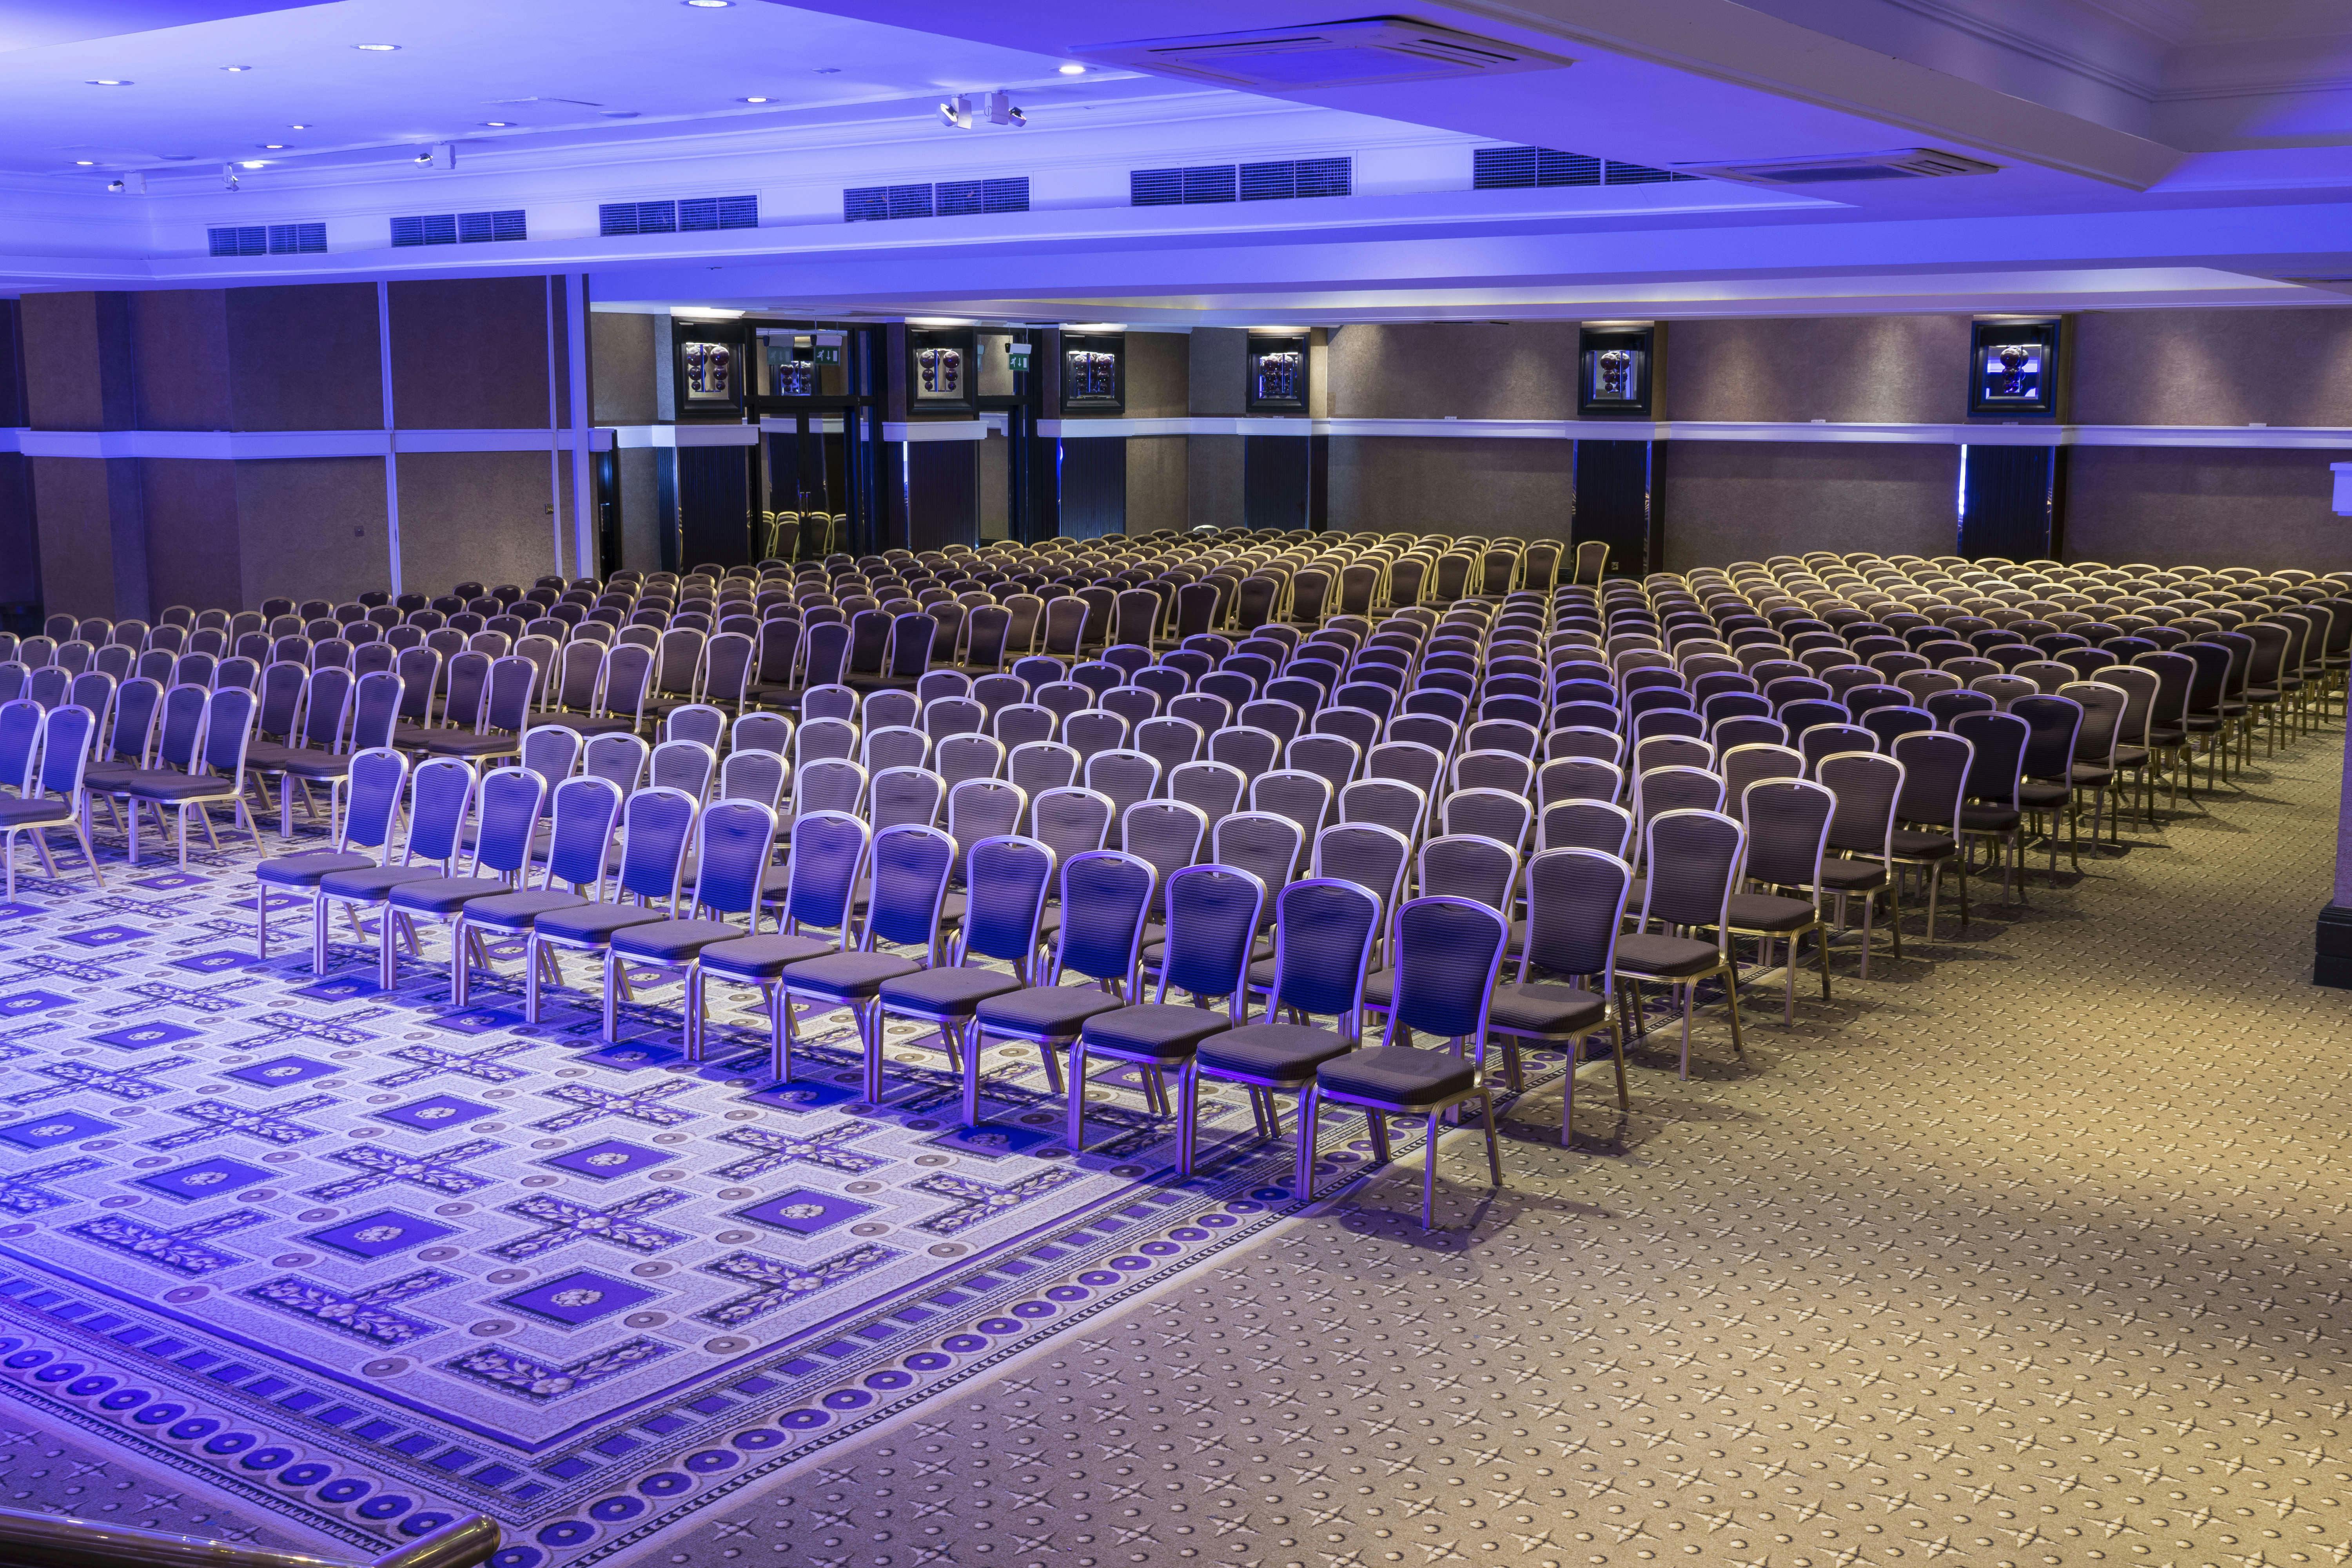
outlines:
M1021 990L1037 969L1037 919L1054 882L1054 851L1037 839L985 837L964 856L969 910L946 961L882 980L882 1020L910 1018L938 1030L950 1067L962 1079L964 1126L981 1119L981 1058L974 1016L988 997ZM983 969L974 959L1009 964ZM880 1034L880 1027L877 1027Z

